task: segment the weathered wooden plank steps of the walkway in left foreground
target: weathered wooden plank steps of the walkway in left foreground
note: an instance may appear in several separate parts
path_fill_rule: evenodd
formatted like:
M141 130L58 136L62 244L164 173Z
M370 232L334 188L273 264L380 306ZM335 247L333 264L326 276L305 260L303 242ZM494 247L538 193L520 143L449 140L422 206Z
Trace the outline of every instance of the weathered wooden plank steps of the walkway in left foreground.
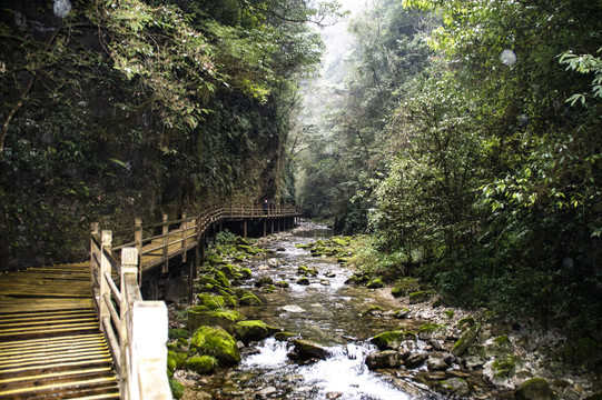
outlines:
M118 399L89 264L0 274L0 399Z

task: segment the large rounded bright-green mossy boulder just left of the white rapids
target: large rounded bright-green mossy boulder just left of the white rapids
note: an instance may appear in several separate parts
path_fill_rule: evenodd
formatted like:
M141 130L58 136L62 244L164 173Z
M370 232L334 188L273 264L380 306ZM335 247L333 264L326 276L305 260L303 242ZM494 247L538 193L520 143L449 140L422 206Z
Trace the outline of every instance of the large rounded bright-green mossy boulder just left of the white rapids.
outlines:
M190 346L200 354L215 357L220 366L240 361L236 340L221 328L199 327L190 339Z

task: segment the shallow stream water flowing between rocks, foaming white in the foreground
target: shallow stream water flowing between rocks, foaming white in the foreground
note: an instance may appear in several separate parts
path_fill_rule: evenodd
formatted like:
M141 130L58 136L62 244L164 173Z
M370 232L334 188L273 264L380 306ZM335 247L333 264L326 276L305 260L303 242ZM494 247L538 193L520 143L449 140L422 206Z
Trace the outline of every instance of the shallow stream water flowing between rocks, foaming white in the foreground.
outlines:
M436 399L420 384L367 369L366 354L376 348L367 339L386 330L399 329L392 317L362 316L382 298L364 287L344 284L352 271L330 258L312 257L296 248L330 236L324 227L302 224L280 233L266 244L275 252L254 260L254 281L270 277L286 281L288 288L265 293L253 290L264 300L261 307L240 311L248 319L259 319L328 349L327 360L298 363L289 359L292 344L274 338L253 343L243 351L243 361L230 370L215 373L203 389L214 399ZM316 268L309 286L297 284L298 266ZM420 322L415 322L420 323ZM411 329L407 324L403 329Z

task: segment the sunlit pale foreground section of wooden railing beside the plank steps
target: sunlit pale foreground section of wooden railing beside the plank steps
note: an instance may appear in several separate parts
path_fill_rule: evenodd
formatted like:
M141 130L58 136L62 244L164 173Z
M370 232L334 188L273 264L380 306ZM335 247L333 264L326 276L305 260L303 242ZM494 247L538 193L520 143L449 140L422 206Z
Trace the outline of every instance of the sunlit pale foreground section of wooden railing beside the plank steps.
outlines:
M92 226L92 296L114 358L121 398L171 399L167 366L167 307L144 301L138 287L138 249L111 249L111 231ZM114 271L119 278L115 283Z

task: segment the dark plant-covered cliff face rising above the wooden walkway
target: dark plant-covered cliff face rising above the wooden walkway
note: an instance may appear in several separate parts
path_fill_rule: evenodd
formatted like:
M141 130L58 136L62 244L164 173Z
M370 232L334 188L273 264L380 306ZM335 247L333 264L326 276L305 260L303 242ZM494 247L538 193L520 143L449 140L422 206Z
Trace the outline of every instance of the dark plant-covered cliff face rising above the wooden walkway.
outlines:
M116 40L131 31L93 4L73 2L65 19L48 1L2 7L0 270L86 259L92 221L117 230L233 196L279 197L277 94L258 100L214 72L205 86L175 70L128 76Z

